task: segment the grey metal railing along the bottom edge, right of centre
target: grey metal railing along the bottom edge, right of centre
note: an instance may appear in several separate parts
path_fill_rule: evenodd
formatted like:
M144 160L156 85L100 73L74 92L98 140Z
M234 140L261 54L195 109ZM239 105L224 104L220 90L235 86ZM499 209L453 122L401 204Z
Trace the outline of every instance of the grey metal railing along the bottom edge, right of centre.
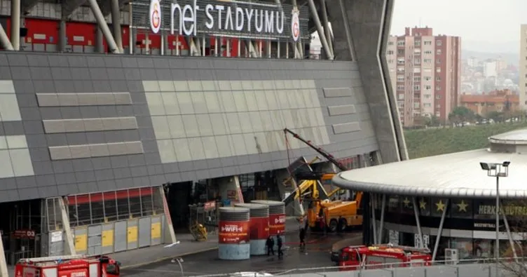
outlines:
M511 272L511 264L518 264L522 267L527 266L525 257L519 257L516 261L513 258L502 258L499 260L498 269L500 277L516 277ZM289 270L269 270L261 272L234 272L211 275L200 275L194 277L261 277L264 273L271 273L274 276L324 276L332 277L341 276L338 272L344 271L346 277L395 277L395 276L413 276L413 277L495 277L495 259L461 259L454 263L453 261L430 262L429 266L423 266L423 262L397 262L385 264L364 264L363 266L325 266Z

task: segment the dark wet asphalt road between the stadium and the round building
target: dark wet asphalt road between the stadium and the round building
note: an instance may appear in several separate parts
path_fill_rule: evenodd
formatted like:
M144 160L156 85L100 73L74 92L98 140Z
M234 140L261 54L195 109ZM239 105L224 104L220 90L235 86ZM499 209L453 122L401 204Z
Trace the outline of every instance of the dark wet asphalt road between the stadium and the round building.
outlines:
M218 259L218 252L214 250L184 257L183 275L177 263L166 261L123 269L121 276L203 276L240 271L280 273L291 269L333 266L329 260L331 245L347 238L356 238L356 244L362 243L362 234L329 234L328 236L312 234L306 240L308 245L303 251L297 244L296 234L292 234L285 238L286 250L282 259L276 256L261 256L244 261L224 261Z

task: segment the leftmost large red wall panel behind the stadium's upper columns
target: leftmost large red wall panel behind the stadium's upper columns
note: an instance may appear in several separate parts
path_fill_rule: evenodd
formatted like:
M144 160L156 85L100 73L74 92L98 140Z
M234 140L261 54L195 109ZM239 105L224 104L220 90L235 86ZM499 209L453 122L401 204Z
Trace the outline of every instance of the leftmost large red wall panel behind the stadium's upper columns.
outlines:
M57 21L27 18L25 22L27 28L25 41L27 43L57 44L59 38ZM9 29L11 32L11 27Z

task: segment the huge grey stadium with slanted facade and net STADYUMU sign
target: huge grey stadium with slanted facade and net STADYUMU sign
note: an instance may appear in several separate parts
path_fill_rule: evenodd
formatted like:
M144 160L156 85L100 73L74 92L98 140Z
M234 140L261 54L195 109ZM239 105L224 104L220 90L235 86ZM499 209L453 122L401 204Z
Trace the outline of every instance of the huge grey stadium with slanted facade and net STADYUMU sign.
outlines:
M6 262L171 243L191 204L280 200L288 157L315 157L284 128L350 168L406 158L392 2L0 1Z

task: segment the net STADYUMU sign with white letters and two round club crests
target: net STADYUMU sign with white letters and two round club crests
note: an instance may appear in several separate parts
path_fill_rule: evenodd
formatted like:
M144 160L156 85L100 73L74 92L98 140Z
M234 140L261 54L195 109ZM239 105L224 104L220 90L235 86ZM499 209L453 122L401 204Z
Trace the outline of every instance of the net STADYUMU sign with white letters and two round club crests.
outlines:
M308 38L307 7L298 9L287 4L219 0L178 0L161 5L159 0L150 2L149 29L154 32L170 29L171 34L182 36L210 34L293 41ZM136 14L140 12L138 9Z

